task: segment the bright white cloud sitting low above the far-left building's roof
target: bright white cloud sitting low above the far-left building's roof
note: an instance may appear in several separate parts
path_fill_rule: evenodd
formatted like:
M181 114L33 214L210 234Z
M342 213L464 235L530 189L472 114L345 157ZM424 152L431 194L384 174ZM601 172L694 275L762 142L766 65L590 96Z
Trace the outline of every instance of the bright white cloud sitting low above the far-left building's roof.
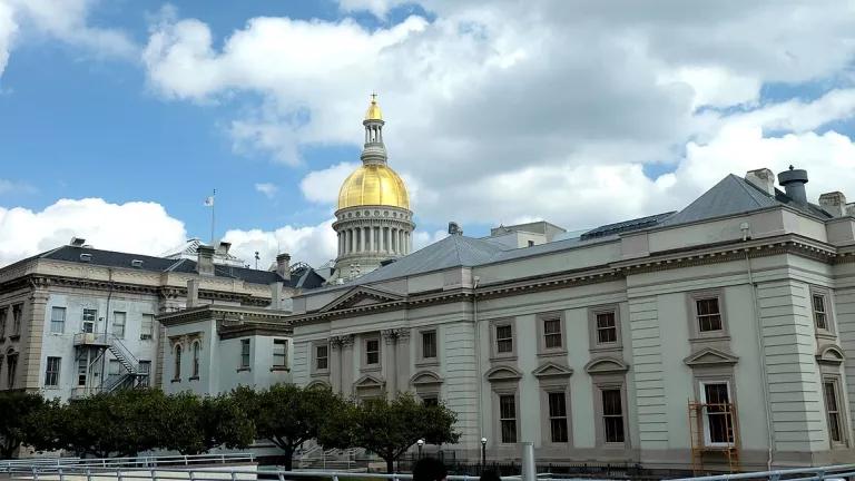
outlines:
M0 207L0 265L83 237L96 248L160 255L183 243L184 223L156 203L60 199L43 210Z

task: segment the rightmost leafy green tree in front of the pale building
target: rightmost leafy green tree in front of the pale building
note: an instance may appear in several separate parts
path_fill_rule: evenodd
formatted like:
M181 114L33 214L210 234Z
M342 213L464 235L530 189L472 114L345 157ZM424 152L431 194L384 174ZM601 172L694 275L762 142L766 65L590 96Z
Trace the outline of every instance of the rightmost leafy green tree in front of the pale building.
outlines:
M364 400L334 416L321 435L327 446L353 445L376 453L393 472L394 461L420 439L430 444L455 443L458 415L444 404L425 405L405 393L393 401Z

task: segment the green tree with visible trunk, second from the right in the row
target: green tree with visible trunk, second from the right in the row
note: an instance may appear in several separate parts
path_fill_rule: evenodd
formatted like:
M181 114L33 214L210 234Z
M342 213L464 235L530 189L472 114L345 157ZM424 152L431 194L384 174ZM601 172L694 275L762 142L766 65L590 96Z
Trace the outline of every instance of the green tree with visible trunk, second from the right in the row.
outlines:
M330 413L346 406L328 389L293 384L275 384L258 392L242 386L233 395L255 424L257 435L284 451L286 470L292 469L294 451L317 438Z

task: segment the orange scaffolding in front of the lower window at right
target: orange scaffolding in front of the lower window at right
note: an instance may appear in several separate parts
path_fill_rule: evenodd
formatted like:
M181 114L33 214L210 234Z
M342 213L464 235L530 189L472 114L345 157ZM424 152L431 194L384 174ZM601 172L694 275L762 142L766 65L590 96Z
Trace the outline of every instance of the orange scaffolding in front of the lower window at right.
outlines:
M739 424L734 403L689 401L691 469L705 472L705 458L715 457L731 473L739 472ZM712 460L709 460L712 461Z

